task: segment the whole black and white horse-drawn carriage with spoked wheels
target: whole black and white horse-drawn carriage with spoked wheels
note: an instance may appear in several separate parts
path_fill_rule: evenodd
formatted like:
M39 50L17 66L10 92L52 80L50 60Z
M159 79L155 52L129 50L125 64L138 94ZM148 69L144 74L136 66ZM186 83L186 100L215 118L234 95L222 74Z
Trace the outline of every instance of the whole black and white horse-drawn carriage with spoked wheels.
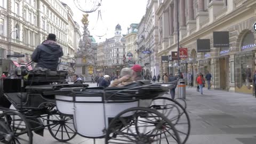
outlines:
M161 97L172 84L136 82L104 89L60 84L67 76L63 70L17 68L16 72L18 77L2 80L0 142L33 143L33 132L43 136L45 128L62 142L76 134L105 138L106 143L185 143L188 139L186 109Z

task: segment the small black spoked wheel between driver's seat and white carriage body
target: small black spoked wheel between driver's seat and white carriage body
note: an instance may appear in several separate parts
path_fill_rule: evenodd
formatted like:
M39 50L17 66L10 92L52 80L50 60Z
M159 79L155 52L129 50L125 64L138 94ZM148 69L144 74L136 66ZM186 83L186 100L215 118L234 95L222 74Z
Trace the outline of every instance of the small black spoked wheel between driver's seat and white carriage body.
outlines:
M76 136L73 116L54 114L47 116L47 128L52 137L60 142L67 142Z

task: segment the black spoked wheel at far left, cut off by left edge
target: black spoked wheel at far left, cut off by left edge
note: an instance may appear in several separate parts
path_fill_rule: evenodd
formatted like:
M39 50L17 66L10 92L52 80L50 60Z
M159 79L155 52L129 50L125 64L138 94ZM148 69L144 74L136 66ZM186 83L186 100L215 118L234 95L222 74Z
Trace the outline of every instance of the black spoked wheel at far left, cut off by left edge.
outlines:
M25 116L18 111L8 110L0 114L0 127L3 137L0 142L10 144L33 143L33 133Z

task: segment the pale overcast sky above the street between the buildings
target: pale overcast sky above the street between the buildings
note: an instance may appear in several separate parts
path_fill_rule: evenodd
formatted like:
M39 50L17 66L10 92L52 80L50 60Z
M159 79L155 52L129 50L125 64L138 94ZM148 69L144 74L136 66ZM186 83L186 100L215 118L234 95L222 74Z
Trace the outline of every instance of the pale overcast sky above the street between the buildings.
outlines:
M79 11L74 4L74 0L61 0L66 3L74 13L74 20L79 23L82 31L83 12ZM86 0L81 0L81 2ZM91 1L91 0L87 0ZM122 28L122 34L127 33L127 27L131 23L139 23L143 15L146 13L146 5L148 0L102 0L102 6L100 7L102 22L98 22L98 11L89 13L89 30L90 34L93 35L94 26L98 26L98 31L108 29L107 35L104 37L97 37L93 35L95 40L98 42L104 41L106 38L111 38L115 35L115 26L119 23ZM103 26L100 23L104 23ZM95 28L96 29L96 28ZM98 32L99 33L99 32ZM99 35L99 34L98 34Z

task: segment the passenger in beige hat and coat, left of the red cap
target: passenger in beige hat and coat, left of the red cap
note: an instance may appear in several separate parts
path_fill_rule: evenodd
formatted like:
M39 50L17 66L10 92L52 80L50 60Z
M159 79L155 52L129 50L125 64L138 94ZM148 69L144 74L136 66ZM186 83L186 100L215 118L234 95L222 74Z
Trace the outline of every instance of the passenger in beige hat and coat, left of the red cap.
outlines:
M133 83L132 69L123 68L121 70L120 77L121 78L119 78L119 79L115 79L115 81L110 84L110 87L125 86L125 85Z

